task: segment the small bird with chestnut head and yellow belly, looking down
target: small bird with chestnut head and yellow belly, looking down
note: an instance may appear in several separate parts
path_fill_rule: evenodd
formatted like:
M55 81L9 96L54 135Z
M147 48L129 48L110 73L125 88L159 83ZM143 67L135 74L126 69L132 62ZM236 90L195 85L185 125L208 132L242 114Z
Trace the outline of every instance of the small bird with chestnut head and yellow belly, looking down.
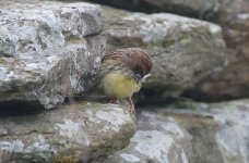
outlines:
M106 54L100 65L100 87L111 98L127 99L133 114L132 95L140 90L142 83L150 76L152 60L140 48L118 49Z

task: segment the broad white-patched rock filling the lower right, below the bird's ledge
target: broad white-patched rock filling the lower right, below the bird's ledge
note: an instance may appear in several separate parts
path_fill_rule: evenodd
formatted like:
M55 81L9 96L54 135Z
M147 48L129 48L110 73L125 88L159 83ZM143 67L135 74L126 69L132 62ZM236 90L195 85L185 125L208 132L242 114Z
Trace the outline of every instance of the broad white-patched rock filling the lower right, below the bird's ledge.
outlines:
M153 112L141 112L128 147L96 162L249 162L248 99L183 101Z

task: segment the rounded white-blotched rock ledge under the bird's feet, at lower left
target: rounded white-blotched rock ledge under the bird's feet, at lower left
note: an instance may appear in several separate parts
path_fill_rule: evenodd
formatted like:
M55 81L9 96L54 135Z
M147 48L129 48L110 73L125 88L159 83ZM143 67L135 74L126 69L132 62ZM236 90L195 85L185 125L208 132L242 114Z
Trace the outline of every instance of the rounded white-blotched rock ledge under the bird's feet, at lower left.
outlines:
M1 163L106 156L126 147L135 130L127 105L87 101L28 115L1 116L0 126Z

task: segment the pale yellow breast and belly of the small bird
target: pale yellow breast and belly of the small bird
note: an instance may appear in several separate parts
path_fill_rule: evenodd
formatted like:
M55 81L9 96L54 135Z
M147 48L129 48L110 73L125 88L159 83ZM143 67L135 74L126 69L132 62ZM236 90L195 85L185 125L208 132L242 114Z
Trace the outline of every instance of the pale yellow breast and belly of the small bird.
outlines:
M109 97L127 98L140 90L141 83L127 77L121 71L116 71L103 78L103 86L105 93Z

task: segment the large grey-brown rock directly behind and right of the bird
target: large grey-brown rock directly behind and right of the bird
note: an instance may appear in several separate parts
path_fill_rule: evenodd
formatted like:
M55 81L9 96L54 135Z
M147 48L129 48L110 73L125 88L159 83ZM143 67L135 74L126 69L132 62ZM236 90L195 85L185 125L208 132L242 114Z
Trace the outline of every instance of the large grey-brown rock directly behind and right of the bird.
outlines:
M103 10L107 51L141 47L151 54L149 89L182 91L222 65L225 43L217 25L166 13Z

